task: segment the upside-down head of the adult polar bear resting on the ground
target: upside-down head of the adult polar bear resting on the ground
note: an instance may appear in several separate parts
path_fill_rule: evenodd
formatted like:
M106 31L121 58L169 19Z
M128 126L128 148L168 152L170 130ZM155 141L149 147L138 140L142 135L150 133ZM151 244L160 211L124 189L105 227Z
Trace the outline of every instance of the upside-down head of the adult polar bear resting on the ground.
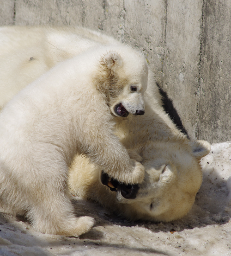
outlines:
M150 141L144 147L145 154L137 153L143 158L145 180L133 194L134 199L125 198L126 191L116 192L122 214L132 219L164 222L182 218L191 209L201 186L200 160L209 153L210 144Z

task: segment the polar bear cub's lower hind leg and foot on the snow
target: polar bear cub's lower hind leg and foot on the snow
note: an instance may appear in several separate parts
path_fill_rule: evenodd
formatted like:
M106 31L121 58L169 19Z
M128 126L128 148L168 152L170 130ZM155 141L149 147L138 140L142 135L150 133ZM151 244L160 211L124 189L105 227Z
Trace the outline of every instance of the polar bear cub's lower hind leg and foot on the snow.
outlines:
M66 237L78 237L90 230L94 219L88 216L77 218L67 192L55 192L53 198L44 195L43 200L38 200L28 211L27 217L33 228L45 234Z

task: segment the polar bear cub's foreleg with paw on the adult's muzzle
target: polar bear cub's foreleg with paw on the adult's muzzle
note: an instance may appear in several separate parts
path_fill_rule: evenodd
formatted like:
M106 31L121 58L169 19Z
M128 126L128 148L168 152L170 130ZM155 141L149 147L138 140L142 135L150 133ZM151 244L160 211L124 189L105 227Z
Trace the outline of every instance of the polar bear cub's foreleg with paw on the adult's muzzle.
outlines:
M138 160L136 161L129 157L128 150L113 134L113 128L110 129L110 124L104 123L98 129L96 126L97 124L94 131L92 129L91 132L97 134L97 138L86 143L88 147L84 150L91 162L101 166L105 173L119 182L125 184L141 183L144 179L145 169L138 162L140 158L136 158Z

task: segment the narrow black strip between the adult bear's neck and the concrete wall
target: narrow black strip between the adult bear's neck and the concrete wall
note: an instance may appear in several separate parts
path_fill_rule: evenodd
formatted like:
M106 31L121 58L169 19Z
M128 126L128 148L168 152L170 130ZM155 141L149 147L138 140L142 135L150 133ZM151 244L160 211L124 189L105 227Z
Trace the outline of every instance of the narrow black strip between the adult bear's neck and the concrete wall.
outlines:
M183 127L181 118L178 115L176 109L174 108L172 100L168 97L167 93L162 88L160 88L158 83L157 83L157 86L158 86L159 92L162 96L164 111L170 116L171 120L176 124L176 127L178 129L180 129L181 132L188 137L188 133L187 133L186 129ZM189 137L188 137L188 139L189 139Z

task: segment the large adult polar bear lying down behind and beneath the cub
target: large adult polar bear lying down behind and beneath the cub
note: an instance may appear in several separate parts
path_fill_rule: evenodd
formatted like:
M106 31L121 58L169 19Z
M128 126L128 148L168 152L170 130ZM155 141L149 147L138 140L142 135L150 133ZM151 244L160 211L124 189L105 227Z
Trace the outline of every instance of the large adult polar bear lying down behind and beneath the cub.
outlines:
M0 38L0 69L4 70L0 90L5 92L0 95L1 107L57 62L99 44L122 45L79 27L3 27ZM117 192L110 191L113 188L101 182L102 168L82 156L72 163L69 186L73 194L100 202L126 218L171 221L187 214L193 205L202 180L200 159L209 153L210 145L189 141L176 129L161 106L150 70L144 100L145 115L114 117L116 135L130 149L130 156L145 166L145 179L135 198L124 198L122 194L129 193L129 187L114 181Z

